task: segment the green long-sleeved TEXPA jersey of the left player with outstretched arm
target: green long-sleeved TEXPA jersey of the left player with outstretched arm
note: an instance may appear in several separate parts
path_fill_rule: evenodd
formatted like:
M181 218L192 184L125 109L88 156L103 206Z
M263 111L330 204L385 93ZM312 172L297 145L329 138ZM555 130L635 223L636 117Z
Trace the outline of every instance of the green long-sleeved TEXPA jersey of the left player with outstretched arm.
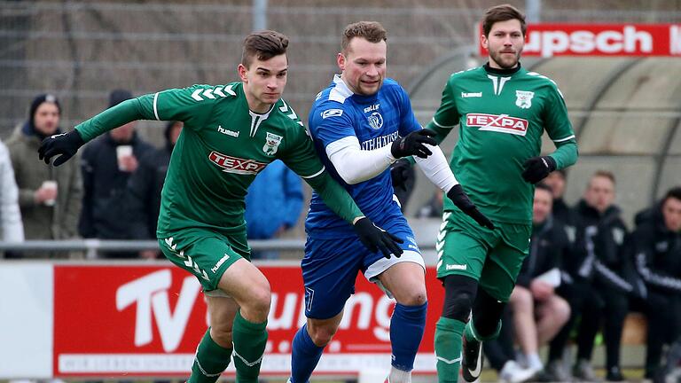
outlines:
M138 119L184 121L161 192L158 238L187 228L245 231L248 185L273 160L283 160L317 189L333 189L337 213L347 221L362 215L340 185L330 185L311 138L283 99L267 113L254 113L241 82L194 85L126 101L76 129L87 142Z

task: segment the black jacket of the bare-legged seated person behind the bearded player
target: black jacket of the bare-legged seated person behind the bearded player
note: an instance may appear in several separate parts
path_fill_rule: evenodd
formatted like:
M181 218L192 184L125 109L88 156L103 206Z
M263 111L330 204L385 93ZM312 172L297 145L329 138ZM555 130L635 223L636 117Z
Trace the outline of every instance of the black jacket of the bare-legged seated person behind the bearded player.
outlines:
M543 224L532 228L529 254L522 262L517 285L529 287L532 279L552 269L560 269L569 261L570 244L565 227L549 216Z

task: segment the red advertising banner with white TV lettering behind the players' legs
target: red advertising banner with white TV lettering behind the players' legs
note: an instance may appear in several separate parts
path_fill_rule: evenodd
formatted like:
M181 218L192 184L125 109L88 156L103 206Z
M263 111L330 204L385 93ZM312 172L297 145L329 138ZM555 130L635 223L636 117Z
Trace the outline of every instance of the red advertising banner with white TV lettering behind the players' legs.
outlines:
M262 267L272 286L270 334L263 375L290 371L291 341L304 323L299 267ZM434 373L434 324L442 286L427 273L427 330L416 373ZM357 277L340 331L326 348L321 373L383 368L390 363L394 301ZM206 304L195 277L176 267L54 267L54 376L186 376L207 329ZM226 375L233 373L233 366Z

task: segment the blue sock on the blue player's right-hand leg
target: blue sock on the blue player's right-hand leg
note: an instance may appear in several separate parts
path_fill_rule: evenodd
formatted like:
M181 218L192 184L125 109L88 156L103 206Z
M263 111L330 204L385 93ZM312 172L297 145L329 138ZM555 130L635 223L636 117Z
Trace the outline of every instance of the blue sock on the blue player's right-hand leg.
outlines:
M414 359L426 328L427 307L428 302L420 306L395 305L390 320L390 342L393 346L393 366L398 370L414 369Z

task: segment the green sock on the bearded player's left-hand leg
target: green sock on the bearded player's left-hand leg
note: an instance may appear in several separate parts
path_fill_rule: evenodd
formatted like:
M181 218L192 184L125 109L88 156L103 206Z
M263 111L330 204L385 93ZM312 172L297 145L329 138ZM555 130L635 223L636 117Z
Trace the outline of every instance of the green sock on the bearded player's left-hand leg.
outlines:
M465 323L446 317L440 317L435 324L435 357L439 383L457 383L458 381L464 326L466 326Z

